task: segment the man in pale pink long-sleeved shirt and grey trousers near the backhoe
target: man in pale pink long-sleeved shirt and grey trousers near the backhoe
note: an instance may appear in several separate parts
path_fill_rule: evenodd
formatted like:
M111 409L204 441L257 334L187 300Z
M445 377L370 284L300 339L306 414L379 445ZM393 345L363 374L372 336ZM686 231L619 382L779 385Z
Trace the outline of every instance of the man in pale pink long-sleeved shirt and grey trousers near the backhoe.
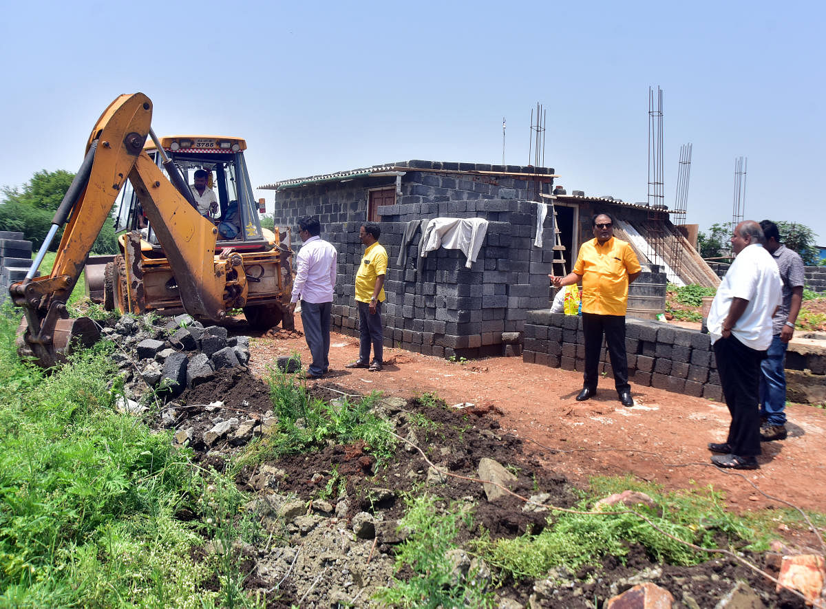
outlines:
M330 309L335 289L335 248L319 237L318 218L298 219L298 236L303 245L296 257L296 279L292 282L292 303L301 297L301 323L310 347L312 363L307 379L320 379L330 370Z

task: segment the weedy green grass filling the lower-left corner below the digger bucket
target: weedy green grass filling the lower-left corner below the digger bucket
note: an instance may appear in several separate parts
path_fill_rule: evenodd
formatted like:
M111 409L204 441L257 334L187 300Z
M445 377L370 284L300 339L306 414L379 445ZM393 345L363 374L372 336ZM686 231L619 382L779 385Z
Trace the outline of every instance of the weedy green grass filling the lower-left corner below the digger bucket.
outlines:
M16 325L2 309L0 607L248 604L229 550L192 558L204 537L242 522L235 485L192 465L169 433L116 413L112 343L46 375L17 357ZM219 490L199 501L209 486ZM192 522L175 516L184 508ZM221 589L205 590L208 580Z

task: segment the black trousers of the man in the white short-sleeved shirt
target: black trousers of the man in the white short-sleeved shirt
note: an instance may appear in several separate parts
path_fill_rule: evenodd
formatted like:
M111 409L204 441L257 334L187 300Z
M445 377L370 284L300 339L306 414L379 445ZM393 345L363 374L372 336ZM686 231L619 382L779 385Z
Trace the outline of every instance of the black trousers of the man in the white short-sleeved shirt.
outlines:
M760 388L760 363L765 351L746 347L734 338L719 338L714 342L714 359L723 386L723 397L731 413L729 438L733 455L760 454L760 412L757 394Z

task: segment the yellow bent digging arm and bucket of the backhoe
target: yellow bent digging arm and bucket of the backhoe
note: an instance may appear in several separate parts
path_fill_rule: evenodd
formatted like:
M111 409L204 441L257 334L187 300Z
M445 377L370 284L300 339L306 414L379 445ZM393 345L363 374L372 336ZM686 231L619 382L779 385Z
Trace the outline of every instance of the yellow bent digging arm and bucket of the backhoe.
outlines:
M127 179L164 247L188 313L221 319L226 272L239 267L237 272L243 273L240 259L215 260L215 227L143 152L151 118L152 102L143 93L121 95L107 107L89 135L81 171L55 213L31 270L9 288L12 301L25 313L18 329L19 350L42 366L63 361L74 343L88 346L99 338L91 319L69 319L65 305ZM35 277L63 224L50 275Z

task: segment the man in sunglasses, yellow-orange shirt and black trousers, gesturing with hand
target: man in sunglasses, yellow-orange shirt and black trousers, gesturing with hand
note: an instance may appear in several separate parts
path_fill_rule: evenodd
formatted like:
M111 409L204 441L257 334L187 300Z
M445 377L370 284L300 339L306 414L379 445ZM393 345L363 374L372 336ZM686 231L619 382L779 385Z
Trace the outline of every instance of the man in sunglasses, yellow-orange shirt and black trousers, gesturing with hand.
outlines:
M573 271L564 277L549 275L553 286L571 286L582 280L582 333L585 335L585 381L577 401L596 394L602 336L608 342L611 367L619 401L633 406L625 355L625 309L628 286L642 268L631 246L614 237L614 218L597 214L591 218L594 238L579 248Z

